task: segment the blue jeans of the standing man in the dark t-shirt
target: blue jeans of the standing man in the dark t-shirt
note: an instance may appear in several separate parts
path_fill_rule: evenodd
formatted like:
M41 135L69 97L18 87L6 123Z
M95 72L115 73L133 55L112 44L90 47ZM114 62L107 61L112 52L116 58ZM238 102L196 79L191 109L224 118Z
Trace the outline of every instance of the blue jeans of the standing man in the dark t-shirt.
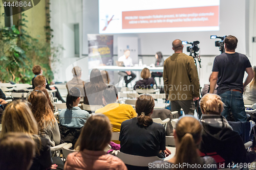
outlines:
M242 92L226 91L219 95L222 98L221 99L222 102L226 105L226 106L224 106L224 110L221 112L221 115L223 115L224 117L226 117L228 119L230 116L230 111L229 111L229 109L230 109L234 116L234 120L236 120L236 122L246 122L247 121Z

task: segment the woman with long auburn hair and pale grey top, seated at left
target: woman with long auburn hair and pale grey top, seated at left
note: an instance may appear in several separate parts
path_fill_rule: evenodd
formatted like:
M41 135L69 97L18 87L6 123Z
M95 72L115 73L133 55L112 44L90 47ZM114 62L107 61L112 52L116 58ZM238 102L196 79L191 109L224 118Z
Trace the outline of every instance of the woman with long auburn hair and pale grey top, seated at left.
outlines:
M31 92L28 101L32 105L32 113L38 123L39 135L48 138L52 147L59 144L58 123L48 104L46 94L40 90L34 90Z

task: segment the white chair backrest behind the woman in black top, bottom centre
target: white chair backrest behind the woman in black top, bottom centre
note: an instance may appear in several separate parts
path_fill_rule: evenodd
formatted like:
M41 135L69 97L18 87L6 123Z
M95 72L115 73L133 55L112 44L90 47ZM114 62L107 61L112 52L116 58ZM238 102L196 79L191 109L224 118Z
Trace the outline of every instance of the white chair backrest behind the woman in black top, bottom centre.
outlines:
M121 159L123 163L127 165L133 165L133 166L148 166L149 163L152 163L156 160L162 160L157 156L144 157L144 156L125 154L122 152L118 152L116 156L119 159Z

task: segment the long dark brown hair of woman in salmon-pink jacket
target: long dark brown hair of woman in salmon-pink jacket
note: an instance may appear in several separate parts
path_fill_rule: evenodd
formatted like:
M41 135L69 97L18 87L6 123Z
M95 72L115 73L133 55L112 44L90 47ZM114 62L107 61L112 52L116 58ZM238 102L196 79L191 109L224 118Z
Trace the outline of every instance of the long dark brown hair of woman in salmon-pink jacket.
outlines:
M103 151L111 140L111 124L108 117L103 114L91 116L87 119L81 134L75 144L79 151Z

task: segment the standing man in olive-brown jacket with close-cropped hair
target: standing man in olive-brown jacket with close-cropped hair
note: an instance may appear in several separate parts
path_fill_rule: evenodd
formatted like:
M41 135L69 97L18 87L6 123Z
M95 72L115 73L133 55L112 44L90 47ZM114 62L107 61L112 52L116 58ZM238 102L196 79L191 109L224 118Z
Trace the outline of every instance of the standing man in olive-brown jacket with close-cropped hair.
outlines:
M182 108L185 114L194 115L194 100L199 100L199 78L194 58L183 51L182 41L173 41L174 54L164 61L163 80L166 98L172 111Z

